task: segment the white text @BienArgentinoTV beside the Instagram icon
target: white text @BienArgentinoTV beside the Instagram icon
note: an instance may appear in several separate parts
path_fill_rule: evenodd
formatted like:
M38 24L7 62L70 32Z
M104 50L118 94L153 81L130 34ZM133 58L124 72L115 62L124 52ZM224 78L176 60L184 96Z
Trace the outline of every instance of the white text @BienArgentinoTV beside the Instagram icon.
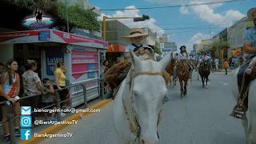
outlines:
M44 120L35 120L34 125L76 125L78 124L78 120L72 120L72 121L44 121Z

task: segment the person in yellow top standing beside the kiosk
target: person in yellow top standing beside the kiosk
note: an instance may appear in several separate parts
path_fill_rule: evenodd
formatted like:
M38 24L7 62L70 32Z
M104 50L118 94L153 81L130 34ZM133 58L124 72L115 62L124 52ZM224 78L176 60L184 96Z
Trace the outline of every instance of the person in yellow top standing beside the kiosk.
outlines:
M60 95L60 100L64 101L66 100L66 95L69 93L69 91L66 89L66 76L64 74L64 70L66 70L64 62L57 62L57 67L54 70L54 78L55 78L55 84L54 87L55 90L58 90L58 94ZM66 102L61 103L62 109L66 108ZM62 117L64 117L66 114L61 113Z

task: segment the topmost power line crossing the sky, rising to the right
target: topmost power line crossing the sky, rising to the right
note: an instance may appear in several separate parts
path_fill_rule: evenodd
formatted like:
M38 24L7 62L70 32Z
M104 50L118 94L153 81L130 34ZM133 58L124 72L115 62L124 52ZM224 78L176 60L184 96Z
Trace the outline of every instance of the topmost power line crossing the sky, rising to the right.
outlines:
M204 2L204 3L194 3L187 5L176 5L176 6L152 6L152 7L138 7L138 8L117 8L117 9L102 9L102 11L115 11L115 10L150 10L150 9L166 9L166 8L175 8L175 7L188 7L188 6L202 6L202 5L214 5L218 3L228 3L228 2L240 2L246 0L227 0L227 1L219 1L219 2Z

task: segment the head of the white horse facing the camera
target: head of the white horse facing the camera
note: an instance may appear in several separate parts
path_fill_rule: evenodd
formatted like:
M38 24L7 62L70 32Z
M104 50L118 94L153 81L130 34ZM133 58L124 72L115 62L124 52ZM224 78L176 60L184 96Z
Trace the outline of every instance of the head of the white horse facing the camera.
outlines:
M158 120L162 110L163 98L167 93L166 81L162 70L170 62L170 54L160 62L142 60L132 54L134 79L131 86L134 111L141 128L139 140L144 144L158 143Z

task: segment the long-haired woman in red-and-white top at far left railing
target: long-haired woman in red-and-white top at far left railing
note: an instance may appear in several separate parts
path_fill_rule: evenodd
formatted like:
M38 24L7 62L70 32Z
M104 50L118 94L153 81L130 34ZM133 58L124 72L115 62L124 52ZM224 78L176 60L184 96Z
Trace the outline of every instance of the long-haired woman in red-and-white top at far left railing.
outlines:
M14 59L10 59L6 64L7 70L4 74L2 74L0 78L0 95L1 99L8 100L13 108L14 116L20 115L20 103L15 98L19 94L20 90L20 78L16 71L18 70L18 62ZM7 121L7 107L5 105L1 106L2 108L2 121ZM20 136L19 130L19 118L14 120L14 129L15 135ZM4 141L10 141L10 130L9 123L3 123L3 134Z

